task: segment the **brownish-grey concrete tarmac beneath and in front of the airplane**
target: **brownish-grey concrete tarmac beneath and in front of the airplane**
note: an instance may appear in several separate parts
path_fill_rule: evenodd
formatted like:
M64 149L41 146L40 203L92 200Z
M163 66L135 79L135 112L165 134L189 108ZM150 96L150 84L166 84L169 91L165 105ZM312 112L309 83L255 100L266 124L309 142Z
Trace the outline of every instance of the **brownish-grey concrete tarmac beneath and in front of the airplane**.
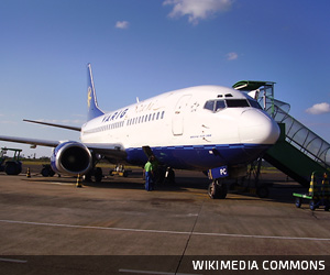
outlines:
M0 271L219 274L194 271L191 261L278 256L323 258L329 271L330 213L296 208L292 194L305 188L285 175L262 179L273 184L268 198L230 193L212 200L208 179L196 172L176 172L176 185L153 191L141 170L81 188L73 177L0 173Z

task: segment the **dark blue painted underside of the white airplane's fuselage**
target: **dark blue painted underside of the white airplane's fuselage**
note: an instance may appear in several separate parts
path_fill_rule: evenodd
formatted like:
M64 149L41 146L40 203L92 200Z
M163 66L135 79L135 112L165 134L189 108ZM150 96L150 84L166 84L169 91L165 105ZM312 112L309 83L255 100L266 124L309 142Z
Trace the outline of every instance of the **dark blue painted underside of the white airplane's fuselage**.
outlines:
M271 145L227 144L152 147L156 158L178 169L206 170L222 165L245 164L254 161ZM144 165L147 161L142 147L127 148L128 163Z

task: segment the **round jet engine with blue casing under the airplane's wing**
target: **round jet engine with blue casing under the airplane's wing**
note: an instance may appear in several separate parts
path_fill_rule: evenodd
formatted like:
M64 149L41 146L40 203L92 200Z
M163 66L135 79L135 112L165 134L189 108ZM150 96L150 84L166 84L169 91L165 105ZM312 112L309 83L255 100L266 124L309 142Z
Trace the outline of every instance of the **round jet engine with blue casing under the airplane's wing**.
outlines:
M54 148L51 156L54 172L76 176L84 175L92 167L89 148L79 142L64 142Z

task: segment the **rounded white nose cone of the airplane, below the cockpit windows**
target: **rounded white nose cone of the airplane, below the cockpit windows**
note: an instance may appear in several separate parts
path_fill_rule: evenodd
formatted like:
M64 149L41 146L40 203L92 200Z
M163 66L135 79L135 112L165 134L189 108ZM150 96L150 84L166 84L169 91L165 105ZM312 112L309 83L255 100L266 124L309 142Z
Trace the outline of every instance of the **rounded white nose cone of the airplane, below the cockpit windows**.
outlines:
M260 110L241 113L239 133L241 143L274 144L279 136L279 127Z

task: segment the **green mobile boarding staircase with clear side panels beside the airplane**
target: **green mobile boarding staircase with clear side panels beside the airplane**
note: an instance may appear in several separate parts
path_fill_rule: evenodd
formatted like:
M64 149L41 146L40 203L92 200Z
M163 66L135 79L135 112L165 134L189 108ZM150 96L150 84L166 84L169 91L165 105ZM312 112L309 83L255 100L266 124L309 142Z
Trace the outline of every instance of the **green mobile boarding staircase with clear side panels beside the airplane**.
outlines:
M274 84L243 80L233 85L233 88L258 99L260 105L280 128L277 143L263 158L304 187L308 187L312 173L330 172L330 144L288 114L290 106L274 98Z

